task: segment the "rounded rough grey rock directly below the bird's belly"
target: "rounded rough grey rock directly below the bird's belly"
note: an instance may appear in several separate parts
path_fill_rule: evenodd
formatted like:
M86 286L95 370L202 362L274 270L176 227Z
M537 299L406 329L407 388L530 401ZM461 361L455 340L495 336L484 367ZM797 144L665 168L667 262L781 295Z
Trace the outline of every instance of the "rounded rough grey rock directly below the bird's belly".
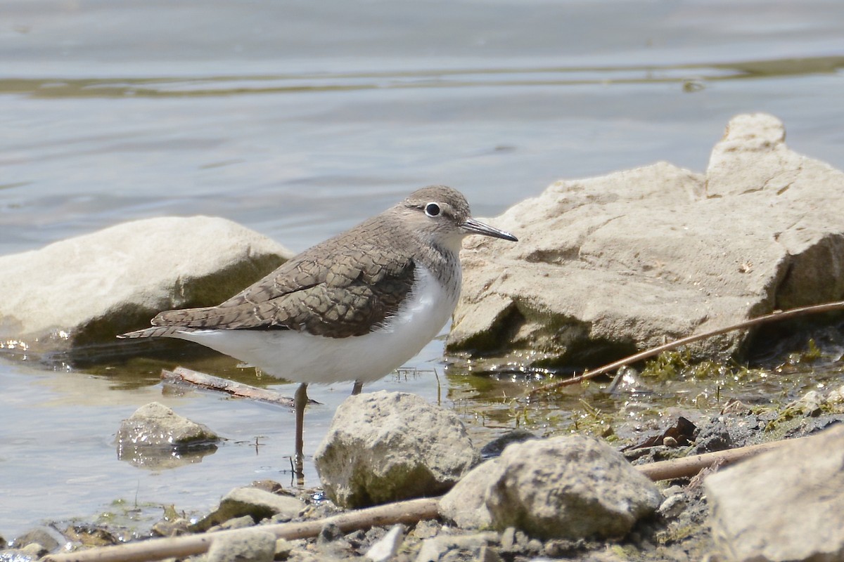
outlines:
M328 497L355 508L441 494L478 458L453 412L381 391L340 404L314 463Z

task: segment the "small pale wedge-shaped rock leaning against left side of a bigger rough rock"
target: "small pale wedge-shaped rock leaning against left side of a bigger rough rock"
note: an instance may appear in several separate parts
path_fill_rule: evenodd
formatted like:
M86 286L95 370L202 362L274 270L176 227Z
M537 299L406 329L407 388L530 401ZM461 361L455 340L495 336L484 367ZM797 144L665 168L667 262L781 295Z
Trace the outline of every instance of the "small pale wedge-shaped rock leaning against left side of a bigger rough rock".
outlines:
M463 476L440 500L440 517L462 529L485 529L492 525L486 507L490 477L497 474L499 460L490 459Z

